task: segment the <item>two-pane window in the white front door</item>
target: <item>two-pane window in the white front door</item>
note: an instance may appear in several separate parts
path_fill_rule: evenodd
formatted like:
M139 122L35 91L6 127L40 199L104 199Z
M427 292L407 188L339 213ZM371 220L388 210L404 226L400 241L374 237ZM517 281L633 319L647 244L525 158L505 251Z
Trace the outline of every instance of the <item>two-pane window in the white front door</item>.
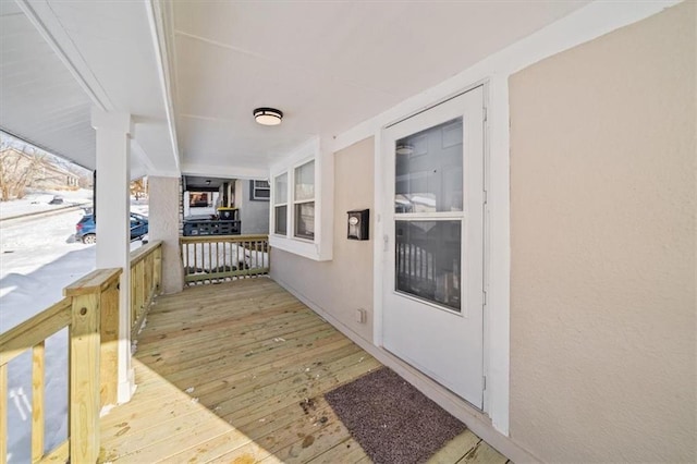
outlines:
M394 143L394 290L462 310L463 118ZM464 224L464 225L463 225Z

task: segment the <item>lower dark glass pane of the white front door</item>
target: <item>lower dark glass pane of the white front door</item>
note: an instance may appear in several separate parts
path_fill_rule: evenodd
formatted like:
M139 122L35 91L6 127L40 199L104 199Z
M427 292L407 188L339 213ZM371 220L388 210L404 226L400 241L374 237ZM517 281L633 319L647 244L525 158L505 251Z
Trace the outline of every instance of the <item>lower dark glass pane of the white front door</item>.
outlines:
M395 221L395 286L460 312L462 221Z

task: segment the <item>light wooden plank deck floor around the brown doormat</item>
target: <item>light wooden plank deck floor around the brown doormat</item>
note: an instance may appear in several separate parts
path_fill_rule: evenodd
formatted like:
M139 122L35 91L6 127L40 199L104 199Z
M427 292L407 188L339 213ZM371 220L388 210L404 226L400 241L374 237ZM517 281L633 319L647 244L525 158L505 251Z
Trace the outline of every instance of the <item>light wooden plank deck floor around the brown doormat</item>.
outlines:
M380 364L270 279L160 297L134 364L100 462L370 462L322 395ZM467 430L431 462L506 459Z

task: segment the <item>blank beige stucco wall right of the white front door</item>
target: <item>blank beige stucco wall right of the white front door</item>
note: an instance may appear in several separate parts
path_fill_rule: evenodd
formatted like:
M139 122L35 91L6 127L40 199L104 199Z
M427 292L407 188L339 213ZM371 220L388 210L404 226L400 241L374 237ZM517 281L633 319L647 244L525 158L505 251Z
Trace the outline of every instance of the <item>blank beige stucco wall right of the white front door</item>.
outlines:
M513 75L511 438L695 462L696 3Z

